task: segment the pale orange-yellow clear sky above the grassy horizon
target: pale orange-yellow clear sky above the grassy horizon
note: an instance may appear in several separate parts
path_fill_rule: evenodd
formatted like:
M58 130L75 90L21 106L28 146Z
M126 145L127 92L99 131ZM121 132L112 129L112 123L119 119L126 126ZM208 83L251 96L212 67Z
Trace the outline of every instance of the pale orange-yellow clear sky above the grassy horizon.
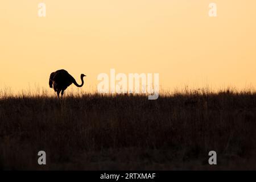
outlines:
M2 1L0 89L48 89L49 74L66 69L79 83L85 73L89 91L110 68L159 73L162 89L256 86L255 7L255 0Z

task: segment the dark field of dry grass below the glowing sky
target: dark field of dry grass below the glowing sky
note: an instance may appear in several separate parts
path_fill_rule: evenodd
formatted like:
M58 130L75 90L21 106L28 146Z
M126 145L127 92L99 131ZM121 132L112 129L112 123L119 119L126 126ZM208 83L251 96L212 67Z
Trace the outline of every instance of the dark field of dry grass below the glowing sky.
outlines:
M256 169L256 93L0 93L2 169ZM38 151L47 153L39 166ZM209 166L208 152L217 152Z

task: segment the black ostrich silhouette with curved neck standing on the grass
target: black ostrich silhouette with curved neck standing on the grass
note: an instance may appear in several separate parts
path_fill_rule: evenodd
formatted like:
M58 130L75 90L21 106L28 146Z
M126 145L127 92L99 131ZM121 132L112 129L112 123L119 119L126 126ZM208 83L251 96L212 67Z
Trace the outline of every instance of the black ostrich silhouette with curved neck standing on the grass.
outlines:
M81 74L82 84L79 85L77 84L75 78L73 78L67 71L60 69L51 73L49 77L49 87L53 88L53 90L57 93L58 98L60 99L60 92L61 98L63 98L65 89L67 89L71 84L75 84L77 87L82 87L82 85L84 85L85 76L86 75Z

